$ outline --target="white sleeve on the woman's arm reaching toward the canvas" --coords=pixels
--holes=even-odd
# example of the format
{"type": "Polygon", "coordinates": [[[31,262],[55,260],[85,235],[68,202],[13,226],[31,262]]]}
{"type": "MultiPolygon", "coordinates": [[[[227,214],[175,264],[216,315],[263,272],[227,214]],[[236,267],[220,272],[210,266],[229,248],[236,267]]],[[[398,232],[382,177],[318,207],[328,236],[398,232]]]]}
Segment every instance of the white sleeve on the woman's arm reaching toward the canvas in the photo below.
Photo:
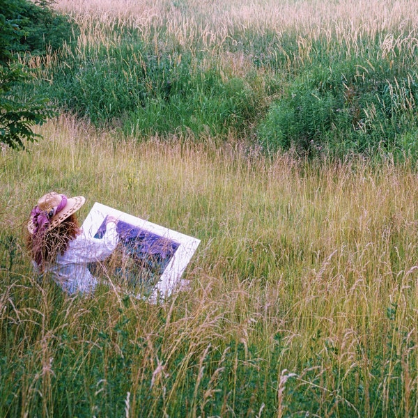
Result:
{"type": "Polygon", "coordinates": [[[90,237],[86,235],[85,231],[82,231],[74,240],[69,242],[63,258],[65,258],[67,263],[102,261],[114,251],[116,245],[118,245],[118,240],[116,224],[109,222],[106,227],[106,233],[104,233],[102,238],[90,237]]]}

